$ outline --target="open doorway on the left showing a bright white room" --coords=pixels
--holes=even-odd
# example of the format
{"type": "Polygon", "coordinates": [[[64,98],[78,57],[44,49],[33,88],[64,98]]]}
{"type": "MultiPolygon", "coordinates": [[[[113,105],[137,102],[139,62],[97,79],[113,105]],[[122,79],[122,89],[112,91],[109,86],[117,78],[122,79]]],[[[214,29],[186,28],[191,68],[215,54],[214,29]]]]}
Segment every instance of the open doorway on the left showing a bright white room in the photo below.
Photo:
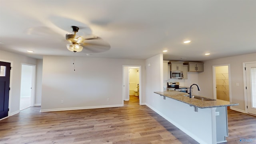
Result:
{"type": "Polygon", "coordinates": [[[35,65],[22,64],[20,84],[20,110],[34,106],[35,65]]]}

